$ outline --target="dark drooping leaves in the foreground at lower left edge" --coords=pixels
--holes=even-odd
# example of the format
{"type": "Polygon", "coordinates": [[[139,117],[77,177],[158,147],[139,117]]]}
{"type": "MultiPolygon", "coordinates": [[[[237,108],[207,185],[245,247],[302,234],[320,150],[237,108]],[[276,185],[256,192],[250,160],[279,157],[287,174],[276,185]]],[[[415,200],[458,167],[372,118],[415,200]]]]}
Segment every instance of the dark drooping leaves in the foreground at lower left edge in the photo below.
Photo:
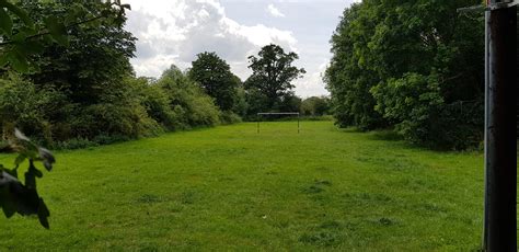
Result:
{"type": "Polygon", "coordinates": [[[50,213],[36,190],[36,177],[41,179],[43,172],[36,168],[35,163],[41,162],[47,171],[50,171],[56,162],[53,153],[34,145],[18,129],[14,131],[13,140],[0,147],[0,152],[18,153],[13,169],[0,164],[0,207],[3,214],[8,218],[16,213],[22,216],[37,215],[42,226],[48,229],[47,218],[50,213]],[[28,161],[28,168],[24,173],[25,184],[23,184],[19,180],[19,168],[25,160],[28,161]]]}

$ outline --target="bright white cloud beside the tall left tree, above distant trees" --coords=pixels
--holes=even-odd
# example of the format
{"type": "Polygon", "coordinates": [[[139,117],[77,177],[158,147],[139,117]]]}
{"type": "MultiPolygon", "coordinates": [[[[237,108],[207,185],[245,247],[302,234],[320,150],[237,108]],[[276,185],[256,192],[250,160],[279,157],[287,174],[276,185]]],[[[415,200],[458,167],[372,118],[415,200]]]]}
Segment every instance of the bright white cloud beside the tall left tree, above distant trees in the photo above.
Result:
{"type": "Polygon", "coordinates": [[[216,51],[243,80],[247,56],[269,43],[298,51],[290,31],[263,24],[243,25],[228,18],[216,0],[126,0],[131,4],[126,28],[139,41],[131,64],[138,76],[160,77],[174,64],[187,68],[203,51],[216,51]]]}

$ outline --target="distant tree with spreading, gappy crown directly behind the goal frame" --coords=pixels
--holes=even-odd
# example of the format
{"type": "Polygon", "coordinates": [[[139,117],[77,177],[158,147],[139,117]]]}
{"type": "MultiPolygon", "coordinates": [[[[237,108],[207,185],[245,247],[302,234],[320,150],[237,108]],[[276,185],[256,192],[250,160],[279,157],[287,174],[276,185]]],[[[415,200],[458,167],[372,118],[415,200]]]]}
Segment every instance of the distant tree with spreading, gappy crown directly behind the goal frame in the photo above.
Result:
{"type": "Polygon", "coordinates": [[[258,57],[249,57],[251,62],[249,68],[253,73],[244,85],[250,98],[253,98],[249,103],[255,103],[252,104],[252,108],[278,111],[285,100],[287,103],[293,96],[291,89],[295,85],[291,81],[305,73],[303,68],[292,66],[293,60],[298,58],[296,53],[287,54],[280,46],[274,44],[264,46],[258,57]]]}

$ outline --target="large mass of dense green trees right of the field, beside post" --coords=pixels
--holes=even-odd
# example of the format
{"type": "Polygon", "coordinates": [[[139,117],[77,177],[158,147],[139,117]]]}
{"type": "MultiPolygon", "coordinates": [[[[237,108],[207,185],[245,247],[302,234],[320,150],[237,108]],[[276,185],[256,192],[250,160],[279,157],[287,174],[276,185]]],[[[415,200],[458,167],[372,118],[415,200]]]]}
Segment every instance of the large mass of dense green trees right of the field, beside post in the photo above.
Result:
{"type": "Polygon", "coordinates": [[[394,128],[429,148],[483,139],[481,0],[364,0],[344,10],[324,81],[339,126],[394,128]]]}

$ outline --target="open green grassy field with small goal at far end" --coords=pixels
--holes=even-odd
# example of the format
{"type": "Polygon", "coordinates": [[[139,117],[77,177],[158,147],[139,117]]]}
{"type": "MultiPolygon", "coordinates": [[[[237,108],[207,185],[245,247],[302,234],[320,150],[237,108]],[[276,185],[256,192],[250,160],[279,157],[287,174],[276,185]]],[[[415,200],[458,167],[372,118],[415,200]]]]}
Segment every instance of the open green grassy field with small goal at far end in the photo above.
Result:
{"type": "MultiPolygon", "coordinates": [[[[470,251],[483,157],[331,122],[174,133],[57,153],[50,230],[0,216],[0,250],[470,251]]],[[[1,163],[12,162],[0,157],[1,163]]]]}

